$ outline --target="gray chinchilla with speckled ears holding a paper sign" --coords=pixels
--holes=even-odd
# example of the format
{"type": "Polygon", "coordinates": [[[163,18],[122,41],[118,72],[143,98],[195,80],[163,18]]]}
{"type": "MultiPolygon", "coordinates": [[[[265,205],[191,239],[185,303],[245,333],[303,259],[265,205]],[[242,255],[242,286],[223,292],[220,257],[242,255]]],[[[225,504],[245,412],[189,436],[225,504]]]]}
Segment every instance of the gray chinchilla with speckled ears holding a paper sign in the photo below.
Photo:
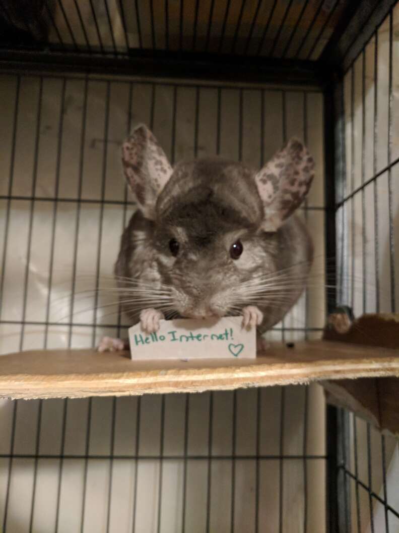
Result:
{"type": "MultiPolygon", "coordinates": [[[[242,315],[263,333],[305,288],[312,240],[294,212],[314,161],[297,139],[259,171],[219,158],[172,167],[146,126],[122,148],[138,209],[121,238],[121,305],[151,333],[161,318],[242,315]]],[[[119,349],[109,339],[99,349],[119,349]],[[111,342],[110,342],[111,341],[111,342]]]]}

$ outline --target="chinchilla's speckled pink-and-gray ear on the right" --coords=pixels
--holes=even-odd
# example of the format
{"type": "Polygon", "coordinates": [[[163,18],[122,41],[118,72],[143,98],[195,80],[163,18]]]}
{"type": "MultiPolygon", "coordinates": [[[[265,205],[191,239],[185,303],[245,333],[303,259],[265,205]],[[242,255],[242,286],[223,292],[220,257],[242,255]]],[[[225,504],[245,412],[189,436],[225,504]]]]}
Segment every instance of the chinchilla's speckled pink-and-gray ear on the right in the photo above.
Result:
{"type": "Polygon", "coordinates": [[[255,175],[264,206],[264,231],[277,231],[301,205],[313,175],[313,158],[298,139],[290,139],[255,175]]]}

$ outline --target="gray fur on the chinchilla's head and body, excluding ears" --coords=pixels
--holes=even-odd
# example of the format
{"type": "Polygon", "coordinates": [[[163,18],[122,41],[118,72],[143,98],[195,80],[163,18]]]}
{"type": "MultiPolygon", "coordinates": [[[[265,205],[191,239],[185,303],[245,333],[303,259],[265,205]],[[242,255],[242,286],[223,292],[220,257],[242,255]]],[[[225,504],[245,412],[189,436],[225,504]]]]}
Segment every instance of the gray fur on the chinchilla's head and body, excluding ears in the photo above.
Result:
{"type": "MultiPolygon", "coordinates": [[[[239,314],[240,308],[255,305],[264,313],[261,333],[277,324],[303,292],[313,245],[296,215],[287,217],[276,231],[264,231],[267,214],[255,175],[242,164],[215,158],[176,165],[157,196],[152,220],[145,217],[145,210],[131,217],[122,235],[115,274],[137,280],[143,290],[168,287],[179,316],[239,314]],[[169,250],[172,238],[180,243],[177,257],[169,250]],[[238,238],[244,252],[233,260],[229,249],[238,238]],[[276,294],[265,303],[267,292],[251,295],[246,288],[288,267],[295,279],[287,281],[289,295],[276,294]]],[[[299,204],[295,199],[294,208],[299,204]]],[[[154,305],[143,303],[146,307],[154,305]]],[[[129,316],[132,322],[138,321],[137,310],[129,316]]]]}

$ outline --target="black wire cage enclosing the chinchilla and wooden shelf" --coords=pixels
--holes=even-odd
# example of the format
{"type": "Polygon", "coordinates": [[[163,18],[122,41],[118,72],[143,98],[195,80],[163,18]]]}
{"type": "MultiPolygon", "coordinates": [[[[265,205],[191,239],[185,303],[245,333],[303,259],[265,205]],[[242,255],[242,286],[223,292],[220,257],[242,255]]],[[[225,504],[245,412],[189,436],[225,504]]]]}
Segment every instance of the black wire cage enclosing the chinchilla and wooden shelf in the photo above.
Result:
{"type": "MultiPolygon", "coordinates": [[[[172,162],[309,146],[318,282],[270,338],[320,336],[336,303],[396,311],[398,32],[393,1],[0,0],[0,352],[126,333],[98,289],[135,208],[119,152],[138,122],[172,162]]],[[[399,448],[316,384],[0,400],[0,524],[395,533],[399,448]]]]}

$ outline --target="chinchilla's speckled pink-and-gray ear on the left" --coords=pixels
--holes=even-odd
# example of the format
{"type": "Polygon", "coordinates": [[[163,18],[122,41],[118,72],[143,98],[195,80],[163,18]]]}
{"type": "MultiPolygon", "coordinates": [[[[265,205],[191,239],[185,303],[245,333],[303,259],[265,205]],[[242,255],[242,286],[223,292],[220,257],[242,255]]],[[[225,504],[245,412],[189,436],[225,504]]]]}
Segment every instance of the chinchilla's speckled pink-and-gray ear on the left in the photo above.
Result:
{"type": "Polygon", "coordinates": [[[172,174],[167,156],[144,124],[137,126],[122,144],[126,181],[144,216],[153,220],[156,199],[172,174]]]}

